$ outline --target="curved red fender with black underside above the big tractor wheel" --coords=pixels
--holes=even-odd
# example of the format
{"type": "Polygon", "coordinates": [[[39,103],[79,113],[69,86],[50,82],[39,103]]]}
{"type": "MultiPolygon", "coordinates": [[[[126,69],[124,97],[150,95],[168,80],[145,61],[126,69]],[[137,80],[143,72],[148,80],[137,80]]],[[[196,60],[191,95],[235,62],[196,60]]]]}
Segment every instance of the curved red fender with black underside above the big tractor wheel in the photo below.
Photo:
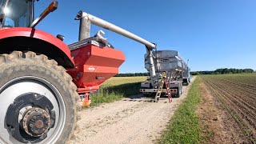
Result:
{"type": "Polygon", "coordinates": [[[0,28],[0,54],[14,50],[30,50],[45,54],[65,68],[74,68],[69,47],[42,30],[28,27],[0,28]]]}

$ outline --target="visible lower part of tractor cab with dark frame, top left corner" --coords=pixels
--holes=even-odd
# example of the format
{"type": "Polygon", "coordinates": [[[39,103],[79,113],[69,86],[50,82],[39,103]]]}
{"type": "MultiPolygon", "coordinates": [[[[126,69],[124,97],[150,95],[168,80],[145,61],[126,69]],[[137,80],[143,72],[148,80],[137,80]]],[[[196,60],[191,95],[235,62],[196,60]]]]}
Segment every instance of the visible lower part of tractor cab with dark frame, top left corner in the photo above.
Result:
{"type": "Polygon", "coordinates": [[[30,27],[34,20],[34,0],[1,0],[1,27],[30,27]]]}

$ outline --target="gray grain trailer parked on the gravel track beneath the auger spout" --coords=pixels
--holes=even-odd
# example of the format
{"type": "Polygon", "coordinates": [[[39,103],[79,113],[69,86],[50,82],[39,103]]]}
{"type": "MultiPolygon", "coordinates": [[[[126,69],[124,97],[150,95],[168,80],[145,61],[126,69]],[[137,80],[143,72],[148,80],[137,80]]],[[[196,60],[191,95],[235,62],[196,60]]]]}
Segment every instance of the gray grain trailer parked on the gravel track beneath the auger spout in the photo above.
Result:
{"type": "MultiPolygon", "coordinates": [[[[146,82],[142,82],[140,92],[145,95],[156,94],[159,86],[161,86],[161,74],[166,72],[171,96],[180,97],[182,86],[188,85],[190,81],[189,68],[186,62],[182,60],[177,50],[158,50],[154,51],[153,54],[156,77],[150,77],[146,82]]],[[[145,68],[146,70],[150,70],[150,62],[147,54],[145,54],[145,68]]],[[[166,85],[164,85],[162,94],[166,93],[166,85]]]]}

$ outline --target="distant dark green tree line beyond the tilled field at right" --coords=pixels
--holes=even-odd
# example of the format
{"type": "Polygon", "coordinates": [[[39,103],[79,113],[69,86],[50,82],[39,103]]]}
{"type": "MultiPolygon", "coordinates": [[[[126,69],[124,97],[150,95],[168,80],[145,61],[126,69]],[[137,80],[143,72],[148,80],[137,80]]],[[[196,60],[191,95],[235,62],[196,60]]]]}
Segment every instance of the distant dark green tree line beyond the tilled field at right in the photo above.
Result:
{"type": "Polygon", "coordinates": [[[252,69],[217,69],[212,71],[193,71],[190,72],[191,75],[202,75],[202,74],[244,74],[244,73],[254,73],[252,69]]]}

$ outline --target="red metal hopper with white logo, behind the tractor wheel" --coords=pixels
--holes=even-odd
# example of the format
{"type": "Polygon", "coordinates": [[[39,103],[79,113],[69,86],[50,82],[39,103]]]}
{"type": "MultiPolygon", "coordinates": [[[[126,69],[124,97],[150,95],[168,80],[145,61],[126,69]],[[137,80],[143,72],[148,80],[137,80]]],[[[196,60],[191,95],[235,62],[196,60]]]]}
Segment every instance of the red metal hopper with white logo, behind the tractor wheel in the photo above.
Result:
{"type": "Polygon", "coordinates": [[[78,90],[102,85],[118,74],[118,67],[125,61],[122,51],[93,45],[71,50],[71,55],[76,68],[67,72],[74,78],[74,83],[80,88],[78,90]]]}

